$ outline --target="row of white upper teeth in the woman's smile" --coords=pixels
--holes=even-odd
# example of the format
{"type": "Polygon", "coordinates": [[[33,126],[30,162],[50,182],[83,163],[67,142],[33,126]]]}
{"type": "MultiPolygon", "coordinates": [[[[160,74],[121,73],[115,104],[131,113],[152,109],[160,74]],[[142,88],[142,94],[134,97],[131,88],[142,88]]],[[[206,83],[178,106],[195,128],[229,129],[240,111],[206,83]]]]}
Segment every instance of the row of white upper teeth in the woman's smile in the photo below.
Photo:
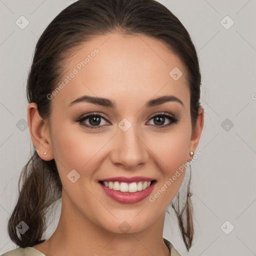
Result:
{"type": "Polygon", "coordinates": [[[132,182],[132,183],[126,183],[126,182],[118,182],[118,181],[103,181],[103,184],[114,190],[119,190],[121,192],[136,192],[141,191],[149,187],[151,181],[139,181],[138,183],[132,182]]]}

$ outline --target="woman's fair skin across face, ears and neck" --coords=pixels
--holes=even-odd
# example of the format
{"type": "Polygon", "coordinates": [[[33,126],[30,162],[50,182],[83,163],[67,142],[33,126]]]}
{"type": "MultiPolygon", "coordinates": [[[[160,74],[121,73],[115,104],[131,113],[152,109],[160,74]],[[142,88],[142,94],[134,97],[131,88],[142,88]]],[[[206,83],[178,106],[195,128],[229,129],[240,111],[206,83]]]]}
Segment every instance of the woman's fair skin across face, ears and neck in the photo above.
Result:
{"type": "MultiPolygon", "coordinates": [[[[49,120],[39,116],[35,103],[27,108],[38,155],[45,161],[55,159],[63,184],[58,225],[48,239],[33,246],[45,255],[170,254],[162,239],[165,209],[180,188],[184,172],[154,202],[148,197],[136,203],[117,202],[99,189],[97,181],[115,176],[152,177],[157,181],[153,195],[189,160],[189,151],[196,151],[203,109],[199,108],[192,130],[186,70],[164,44],[142,35],[110,35],[82,44],[67,61],[66,75],[94,48],[99,50],[53,96],[49,120]],[[174,67],[183,72],[178,80],[169,75],[174,67]],[[110,99],[116,107],[89,102],[68,106],[83,95],[110,99]],[[146,101],[163,95],[174,95],[183,105],[167,101],[144,107],[146,101]],[[92,112],[109,121],[102,117],[94,129],[74,121],[92,112]],[[159,125],[151,117],[163,112],[178,117],[178,122],[156,129],[159,125]],[[131,123],[127,131],[118,126],[123,118],[131,123]],[[67,178],[72,169],[80,174],[74,183],[67,178]],[[118,228],[123,221],[130,226],[126,233],[118,228]]],[[[161,126],[170,122],[165,117],[161,126]]],[[[83,123],[92,126],[89,118],[83,123]]]]}

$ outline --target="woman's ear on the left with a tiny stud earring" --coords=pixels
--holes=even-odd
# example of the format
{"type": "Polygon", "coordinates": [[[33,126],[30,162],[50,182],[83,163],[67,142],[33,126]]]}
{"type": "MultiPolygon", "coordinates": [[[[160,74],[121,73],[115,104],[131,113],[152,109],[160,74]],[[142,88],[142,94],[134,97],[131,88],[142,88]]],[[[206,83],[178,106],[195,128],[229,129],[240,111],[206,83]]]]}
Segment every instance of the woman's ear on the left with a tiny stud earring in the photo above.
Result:
{"type": "Polygon", "coordinates": [[[37,110],[37,104],[34,102],[29,103],[27,106],[27,122],[30,137],[39,157],[45,161],[53,159],[48,120],[41,118],[37,110]]]}

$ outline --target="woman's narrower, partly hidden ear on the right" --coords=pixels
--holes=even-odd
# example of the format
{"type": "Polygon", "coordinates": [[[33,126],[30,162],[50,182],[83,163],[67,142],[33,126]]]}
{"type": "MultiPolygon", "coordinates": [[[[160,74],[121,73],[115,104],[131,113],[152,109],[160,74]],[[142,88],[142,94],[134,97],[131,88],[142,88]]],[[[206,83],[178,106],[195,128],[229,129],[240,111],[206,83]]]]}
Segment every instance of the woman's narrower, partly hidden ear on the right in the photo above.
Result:
{"type": "MultiPolygon", "coordinates": [[[[203,123],[204,123],[204,112],[203,112],[203,108],[199,107],[196,124],[191,133],[191,138],[190,138],[190,143],[189,143],[189,151],[195,152],[195,149],[199,143],[199,138],[200,138],[201,131],[203,128],[203,123]]],[[[188,155],[189,155],[189,152],[188,152],[188,155]]]]}

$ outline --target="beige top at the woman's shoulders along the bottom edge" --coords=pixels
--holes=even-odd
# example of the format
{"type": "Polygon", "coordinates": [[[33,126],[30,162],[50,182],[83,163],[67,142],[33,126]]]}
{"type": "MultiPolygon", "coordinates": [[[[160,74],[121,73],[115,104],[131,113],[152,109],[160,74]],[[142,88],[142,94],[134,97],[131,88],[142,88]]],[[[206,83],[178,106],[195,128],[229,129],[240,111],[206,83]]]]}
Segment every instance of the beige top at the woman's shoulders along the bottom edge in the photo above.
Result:
{"type": "MultiPolygon", "coordinates": [[[[181,256],[166,238],[163,237],[163,241],[170,249],[170,256],[181,256]]],[[[0,256],[46,256],[46,255],[33,247],[25,247],[25,248],[19,247],[19,248],[7,251],[0,256]]]]}

